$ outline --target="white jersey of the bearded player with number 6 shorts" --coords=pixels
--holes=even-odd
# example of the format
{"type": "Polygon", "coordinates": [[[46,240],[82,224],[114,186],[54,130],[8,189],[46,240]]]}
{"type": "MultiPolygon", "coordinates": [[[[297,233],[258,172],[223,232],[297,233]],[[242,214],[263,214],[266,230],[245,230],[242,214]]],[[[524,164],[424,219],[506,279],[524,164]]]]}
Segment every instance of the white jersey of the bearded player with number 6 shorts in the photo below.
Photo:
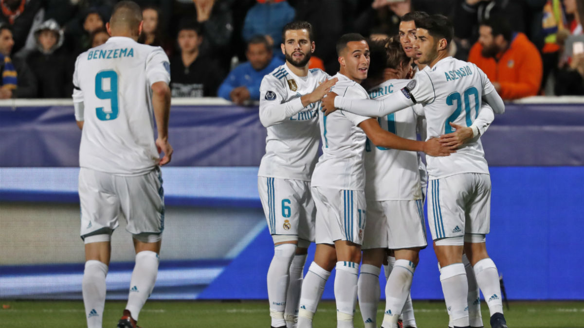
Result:
{"type": "Polygon", "coordinates": [[[300,97],[314,91],[329,77],[318,68],[300,77],[287,64],[264,76],[259,113],[262,123],[269,121],[269,124],[265,124],[268,125],[266,155],[259,165],[258,176],[310,181],[317,163],[321,102],[304,107],[300,97]],[[296,107],[292,116],[284,114],[286,107],[296,107]]]}

